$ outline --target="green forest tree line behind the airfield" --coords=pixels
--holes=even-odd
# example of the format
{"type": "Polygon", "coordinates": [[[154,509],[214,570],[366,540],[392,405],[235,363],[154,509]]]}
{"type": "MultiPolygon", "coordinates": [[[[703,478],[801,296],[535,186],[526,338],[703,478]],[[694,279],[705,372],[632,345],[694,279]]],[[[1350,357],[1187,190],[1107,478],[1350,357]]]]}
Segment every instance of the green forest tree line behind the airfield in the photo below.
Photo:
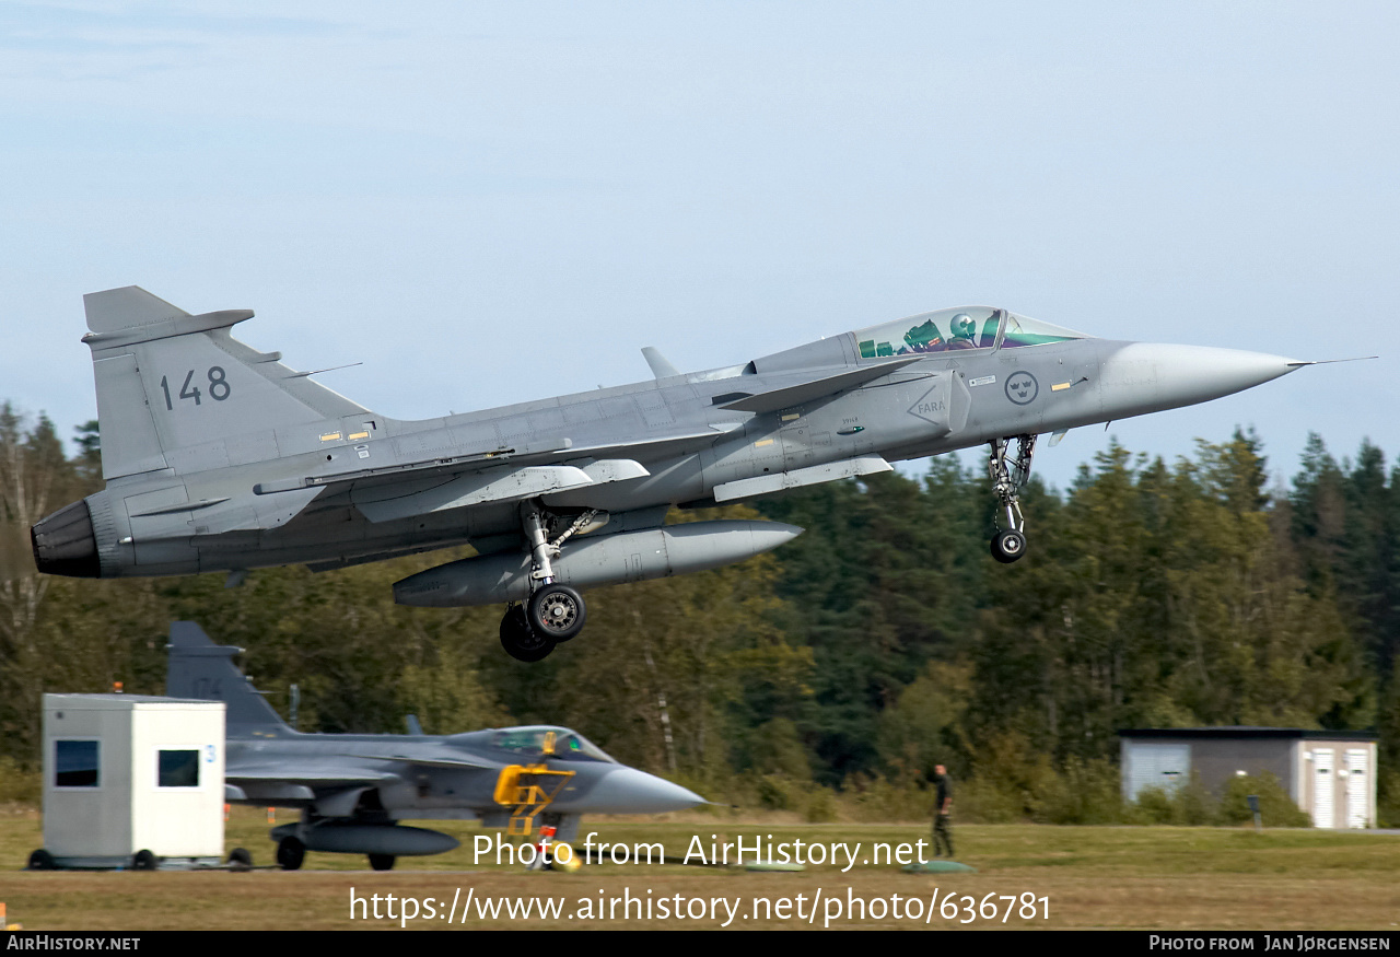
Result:
{"type": "Polygon", "coordinates": [[[812,817],[918,803],[935,763],[972,785],[965,809],[1035,817],[1112,791],[1120,729],[1284,725],[1379,730],[1400,823],[1400,466],[1371,444],[1338,462],[1315,435],[1273,487],[1253,432],[1175,463],[1113,445],[1067,490],[1032,480],[1014,565],[988,554],[984,476],[951,456],[918,478],[676,512],[806,532],[742,565],[591,592],[588,632],[536,665],[501,652],[498,609],[392,603],[392,582],[468,551],[259,569],[232,589],[38,575],[29,526],[101,487],[95,424],[76,448],[0,406],[11,768],[38,763],[45,691],[160,694],[169,621],[189,618],[246,649],[284,715],[295,683],[302,730],[563,723],[713,799],[812,817]]]}

